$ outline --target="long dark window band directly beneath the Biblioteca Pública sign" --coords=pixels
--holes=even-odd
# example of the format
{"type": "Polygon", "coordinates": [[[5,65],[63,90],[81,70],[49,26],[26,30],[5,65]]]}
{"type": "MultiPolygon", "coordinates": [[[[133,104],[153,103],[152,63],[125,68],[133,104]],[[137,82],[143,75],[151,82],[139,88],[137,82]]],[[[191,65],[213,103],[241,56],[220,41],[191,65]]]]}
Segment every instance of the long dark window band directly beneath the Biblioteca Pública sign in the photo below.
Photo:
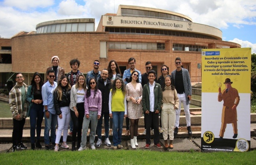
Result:
{"type": "Polygon", "coordinates": [[[158,30],[158,29],[139,29],[139,28],[117,28],[117,27],[106,27],[105,32],[110,33],[121,33],[121,34],[144,34],[144,35],[166,35],[166,36],[180,36],[180,37],[192,37],[192,38],[204,38],[204,39],[214,39],[212,36],[190,33],[190,32],[180,32],[171,30],[158,30]]]}

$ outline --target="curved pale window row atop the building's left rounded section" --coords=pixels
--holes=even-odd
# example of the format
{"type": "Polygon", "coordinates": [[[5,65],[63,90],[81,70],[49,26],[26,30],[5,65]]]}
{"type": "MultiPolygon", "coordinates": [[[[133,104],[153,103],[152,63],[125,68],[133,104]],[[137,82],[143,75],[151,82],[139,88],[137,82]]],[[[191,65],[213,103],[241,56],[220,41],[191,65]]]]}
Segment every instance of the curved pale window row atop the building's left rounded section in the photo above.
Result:
{"type": "Polygon", "coordinates": [[[92,32],[94,23],[63,23],[52,24],[39,27],[37,33],[54,33],[54,32],[92,32]]]}

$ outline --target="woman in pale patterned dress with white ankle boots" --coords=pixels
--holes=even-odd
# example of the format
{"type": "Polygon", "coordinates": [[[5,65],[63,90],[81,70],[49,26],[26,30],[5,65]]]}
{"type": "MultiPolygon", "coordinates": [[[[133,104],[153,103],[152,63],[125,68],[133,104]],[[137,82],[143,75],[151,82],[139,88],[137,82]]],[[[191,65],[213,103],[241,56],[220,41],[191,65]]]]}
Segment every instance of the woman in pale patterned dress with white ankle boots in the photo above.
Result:
{"type": "Polygon", "coordinates": [[[139,118],[142,117],[142,85],[139,83],[138,71],[133,71],[126,85],[128,118],[130,119],[131,147],[136,149],[139,118]]]}

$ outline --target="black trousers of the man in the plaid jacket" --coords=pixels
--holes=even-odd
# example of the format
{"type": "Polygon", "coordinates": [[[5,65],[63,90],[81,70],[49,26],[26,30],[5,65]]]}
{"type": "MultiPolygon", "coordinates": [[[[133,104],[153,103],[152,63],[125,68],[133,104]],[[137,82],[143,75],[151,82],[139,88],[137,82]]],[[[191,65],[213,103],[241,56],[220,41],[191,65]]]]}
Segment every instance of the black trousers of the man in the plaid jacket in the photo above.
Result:
{"type": "Polygon", "coordinates": [[[23,127],[25,124],[24,118],[22,120],[13,120],[13,130],[12,130],[12,146],[16,146],[17,144],[20,144],[22,141],[22,135],[23,135],[23,127]]]}

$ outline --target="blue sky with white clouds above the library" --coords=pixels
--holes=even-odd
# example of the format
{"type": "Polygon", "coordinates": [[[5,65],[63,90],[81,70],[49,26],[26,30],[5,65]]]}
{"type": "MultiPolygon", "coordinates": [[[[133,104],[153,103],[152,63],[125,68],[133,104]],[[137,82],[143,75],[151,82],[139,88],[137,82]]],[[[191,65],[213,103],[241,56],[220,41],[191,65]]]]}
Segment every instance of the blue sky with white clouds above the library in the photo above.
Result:
{"type": "Polygon", "coordinates": [[[120,4],[181,13],[194,23],[220,29],[222,40],[256,53],[256,0],[0,0],[0,36],[11,38],[60,19],[95,18],[97,28],[101,16],[116,13],[120,4]]]}

